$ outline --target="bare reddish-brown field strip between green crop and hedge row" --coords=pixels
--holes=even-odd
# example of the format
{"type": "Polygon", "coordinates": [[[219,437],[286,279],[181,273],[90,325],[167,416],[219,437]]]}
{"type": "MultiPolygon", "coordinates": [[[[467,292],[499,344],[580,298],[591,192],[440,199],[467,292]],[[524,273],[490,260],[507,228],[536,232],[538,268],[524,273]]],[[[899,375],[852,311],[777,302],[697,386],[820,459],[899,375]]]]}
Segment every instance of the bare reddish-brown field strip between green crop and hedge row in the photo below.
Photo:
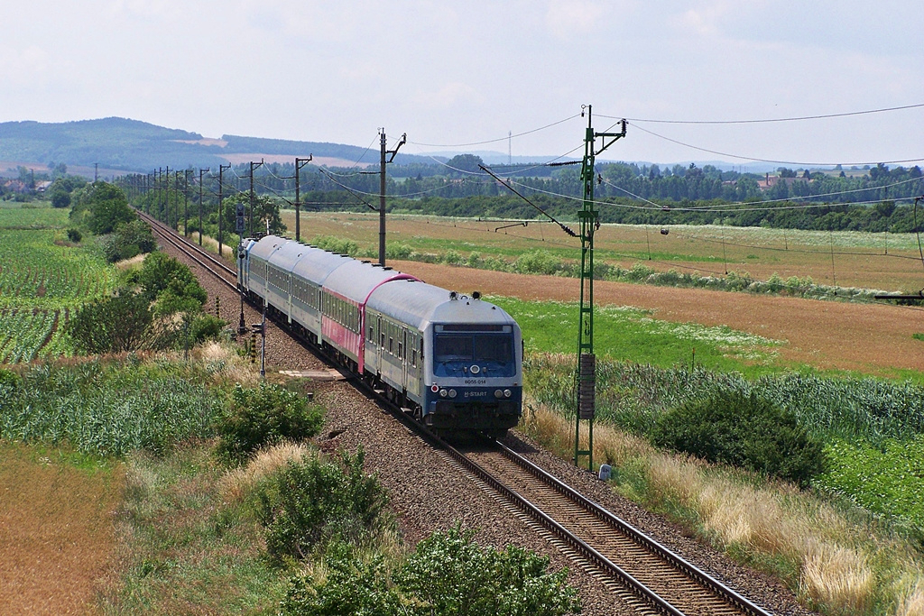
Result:
{"type": "MultiPolygon", "coordinates": [[[[414,261],[388,265],[424,281],[470,293],[522,299],[576,301],[580,281],[471,270],[414,261]]],[[[594,282],[594,302],[654,310],[658,319],[727,325],[742,332],[784,340],[781,356],[818,368],[888,375],[891,370],[924,371],[924,310],[758,296],[747,293],[594,282]]]]}

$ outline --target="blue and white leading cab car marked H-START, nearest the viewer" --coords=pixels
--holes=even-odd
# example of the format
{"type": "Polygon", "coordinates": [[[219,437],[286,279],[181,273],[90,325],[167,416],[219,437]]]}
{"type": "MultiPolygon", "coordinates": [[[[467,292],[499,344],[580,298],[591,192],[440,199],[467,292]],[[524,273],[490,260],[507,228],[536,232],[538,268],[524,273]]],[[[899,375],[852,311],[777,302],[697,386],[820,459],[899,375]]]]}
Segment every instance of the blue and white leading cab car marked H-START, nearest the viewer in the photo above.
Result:
{"type": "Polygon", "coordinates": [[[367,323],[368,366],[376,365],[378,353],[383,380],[400,385],[424,425],[446,436],[482,432],[495,438],[517,425],[522,334],[503,308],[478,294],[388,284],[372,294],[367,323]]]}

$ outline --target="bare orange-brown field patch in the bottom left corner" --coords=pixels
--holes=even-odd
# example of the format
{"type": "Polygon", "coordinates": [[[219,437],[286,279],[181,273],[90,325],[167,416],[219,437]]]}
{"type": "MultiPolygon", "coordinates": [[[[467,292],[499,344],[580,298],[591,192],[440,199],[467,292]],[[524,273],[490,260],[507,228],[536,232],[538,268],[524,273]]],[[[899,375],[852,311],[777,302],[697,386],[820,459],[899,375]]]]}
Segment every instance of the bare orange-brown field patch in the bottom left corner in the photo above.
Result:
{"type": "Polygon", "coordinates": [[[0,614],[95,613],[119,473],[0,443],[0,614]]]}

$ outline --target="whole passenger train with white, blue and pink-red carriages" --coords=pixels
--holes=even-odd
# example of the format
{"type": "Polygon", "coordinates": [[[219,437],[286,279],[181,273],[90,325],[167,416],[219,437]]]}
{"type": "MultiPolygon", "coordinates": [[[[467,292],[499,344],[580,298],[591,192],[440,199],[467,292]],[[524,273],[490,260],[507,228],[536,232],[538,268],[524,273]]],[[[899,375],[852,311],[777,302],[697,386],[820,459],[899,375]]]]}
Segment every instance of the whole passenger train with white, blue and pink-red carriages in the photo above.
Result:
{"type": "Polygon", "coordinates": [[[279,236],[242,240],[237,285],[438,434],[500,438],[517,425],[522,334],[479,293],[279,236]]]}

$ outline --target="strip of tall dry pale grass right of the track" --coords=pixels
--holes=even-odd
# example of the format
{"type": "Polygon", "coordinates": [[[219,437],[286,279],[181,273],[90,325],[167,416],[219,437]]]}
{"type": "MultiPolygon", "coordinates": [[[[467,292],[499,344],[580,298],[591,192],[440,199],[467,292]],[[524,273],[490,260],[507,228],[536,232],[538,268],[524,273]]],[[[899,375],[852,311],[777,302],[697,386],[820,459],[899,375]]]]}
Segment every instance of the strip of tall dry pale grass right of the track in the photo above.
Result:
{"type": "MultiPolygon", "coordinates": [[[[573,419],[530,403],[520,429],[571,459],[573,419]]],[[[586,443],[585,443],[586,444],[586,443]]],[[[689,512],[694,530],[771,570],[824,613],[924,616],[924,560],[904,538],[869,517],[778,480],[762,479],[685,455],[663,453],[611,426],[594,428],[596,463],[613,465],[624,493],[664,510],[689,512]],[[632,474],[638,481],[632,481],[632,474]],[[639,493],[639,486],[642,491],[639,493]],[[796,576],[786,579],[786,571],[796,576]]],[[[681,520],[689,522],[689,520],[681,520]]]]}

